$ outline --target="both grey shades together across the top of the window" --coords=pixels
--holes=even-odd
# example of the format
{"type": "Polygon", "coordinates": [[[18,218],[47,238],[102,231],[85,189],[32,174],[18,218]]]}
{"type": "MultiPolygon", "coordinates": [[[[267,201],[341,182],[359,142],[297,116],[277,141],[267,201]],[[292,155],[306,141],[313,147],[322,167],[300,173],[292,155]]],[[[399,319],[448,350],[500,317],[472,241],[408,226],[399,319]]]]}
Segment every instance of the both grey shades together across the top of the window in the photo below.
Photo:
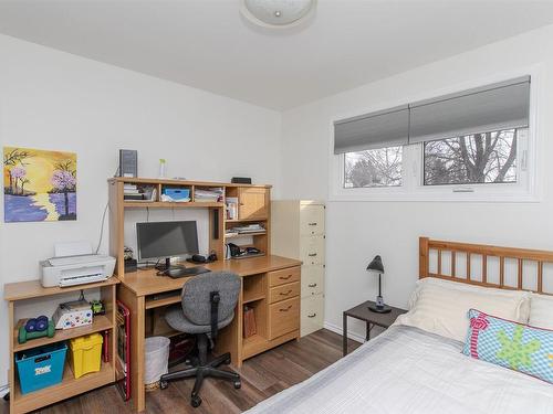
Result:
{"type": "Polygon", "coordinates": [[[525,128],[530,76],[334,123],[334,153],[525,128]]]}

